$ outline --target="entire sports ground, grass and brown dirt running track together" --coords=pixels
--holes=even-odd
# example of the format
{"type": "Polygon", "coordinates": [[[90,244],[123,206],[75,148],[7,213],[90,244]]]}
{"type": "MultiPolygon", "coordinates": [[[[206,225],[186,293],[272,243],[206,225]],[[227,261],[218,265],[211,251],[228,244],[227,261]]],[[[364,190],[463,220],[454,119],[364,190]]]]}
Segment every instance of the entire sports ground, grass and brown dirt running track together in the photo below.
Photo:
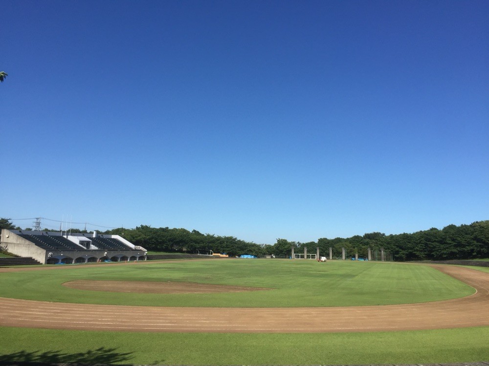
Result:
{"type": "Polygon", "coordinates": [[[0,359],[172,365],[489,360],[489,273],[439,269],[232,259],[9,269],[0,273],[1,306],[8,310],[0,324],[12,326],[0,328],[0,359]],[[140,286],[120,292],[121,283],[134,281],[140,286]],[[105,330],[107,323],[118,331],[105,330]]]}

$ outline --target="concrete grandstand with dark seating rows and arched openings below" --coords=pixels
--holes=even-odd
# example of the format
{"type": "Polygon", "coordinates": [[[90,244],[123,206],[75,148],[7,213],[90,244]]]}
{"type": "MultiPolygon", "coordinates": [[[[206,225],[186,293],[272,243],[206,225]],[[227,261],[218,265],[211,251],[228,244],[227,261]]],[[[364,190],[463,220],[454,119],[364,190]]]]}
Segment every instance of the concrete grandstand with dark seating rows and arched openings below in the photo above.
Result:
{"type": "Polygon", "coordinates": [[[1,245],[21,257],[44,264],[146,260],[146,249],[118,235],[67,234],[49,231],[1,231],[1,245]]]}

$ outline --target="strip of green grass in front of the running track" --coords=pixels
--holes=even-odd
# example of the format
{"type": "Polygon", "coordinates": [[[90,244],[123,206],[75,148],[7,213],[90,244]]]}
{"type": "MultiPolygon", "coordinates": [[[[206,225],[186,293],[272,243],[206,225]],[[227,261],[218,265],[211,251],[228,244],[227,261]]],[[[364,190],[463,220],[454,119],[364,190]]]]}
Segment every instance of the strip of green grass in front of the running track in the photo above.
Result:
{"type": "Polygon", "coordinates": [[[326,334],[128,333],[0,327],[0,361],[368,365],[489,360],[489,327],[326,334]]]}

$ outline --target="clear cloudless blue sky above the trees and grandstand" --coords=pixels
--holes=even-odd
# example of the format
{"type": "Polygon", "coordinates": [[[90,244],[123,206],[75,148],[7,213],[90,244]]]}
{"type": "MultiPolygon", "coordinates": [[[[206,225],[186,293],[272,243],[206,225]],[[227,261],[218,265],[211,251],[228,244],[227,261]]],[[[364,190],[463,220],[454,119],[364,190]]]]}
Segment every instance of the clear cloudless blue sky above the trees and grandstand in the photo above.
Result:
{"type": "Polygon", "coordinates": [[[269,244],[489,219],[488,1],[1,7],[0,217],[269,244]]]}

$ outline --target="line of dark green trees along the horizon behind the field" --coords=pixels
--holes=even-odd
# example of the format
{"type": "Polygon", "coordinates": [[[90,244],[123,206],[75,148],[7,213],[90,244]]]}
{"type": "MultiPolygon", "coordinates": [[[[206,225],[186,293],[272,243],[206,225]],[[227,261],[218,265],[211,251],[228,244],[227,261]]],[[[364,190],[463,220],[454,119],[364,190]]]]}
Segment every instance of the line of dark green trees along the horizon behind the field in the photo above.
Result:
{"type": "MultiPolygon", "coordinates": [[[[1,218],[0,228],[15,227],[9,219],[1,218]]],[[[71,232],[83,231],[71,229],[71,232]]],[[[118,228],[101,234],[120,235],[135,245],[155,252],[197,253],[198,250],[212,250],[229,256],[273,254],[285,258],[290,256],[291,247],[294,247],[295,253],[304,253],[304,247],[307,247],[308,253],[316,253],[316,247],[319,247],[323,256],[329,256],[331,247],[333,257],[341,257],[341,248],[345,248],[348,257],[358,253],[360,258],[366,258],[367,248],[370,247],[374,252],[384,248],[388,253],[386,259],[396,261],[489,258],[489,220],[476,221],[470,225],[448,225],[442,230],[431,228],[413,234],[385,235],[375,232],[348,238],[322,237],[317,242],[307,243],[279,238],[273,245],[256,244],[236,237],[201,234],[197,230],[152,228],[147,225],[134,229],[118,228]]]]}

